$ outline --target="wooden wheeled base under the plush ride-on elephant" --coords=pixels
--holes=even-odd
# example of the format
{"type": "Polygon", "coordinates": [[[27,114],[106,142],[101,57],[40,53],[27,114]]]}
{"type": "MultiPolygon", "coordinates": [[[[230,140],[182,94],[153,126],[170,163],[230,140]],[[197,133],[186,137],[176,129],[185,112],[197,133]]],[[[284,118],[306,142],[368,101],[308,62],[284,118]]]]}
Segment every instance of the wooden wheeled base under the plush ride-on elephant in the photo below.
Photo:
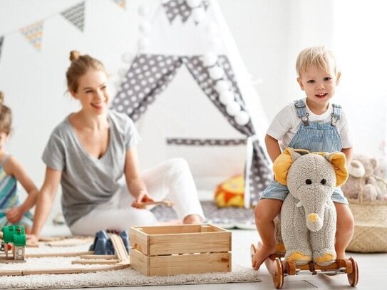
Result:
{"type": "MultiPolygon", "coordinates": [[[[261,247],[260,243],[258,244],[258,247],[252,244],[252,257],[259,247],[261,247]]],[[[358,284],[358,264],[352,257],[349,259],[336,259],[336,261],[329,266],[320,266],[313,261],[310,261],[309,264],[306,265],[297,266],[294,261],[284,261],[284,256],[276,253],[270,255],[264,261],[264,264],[272,275],[273,284],[277,289],[281,289],[284,285],[285,276],[308,273],[312,275],[317,273],[329,275],[347,274],[351,286],[356,286],[358,284]]]]}

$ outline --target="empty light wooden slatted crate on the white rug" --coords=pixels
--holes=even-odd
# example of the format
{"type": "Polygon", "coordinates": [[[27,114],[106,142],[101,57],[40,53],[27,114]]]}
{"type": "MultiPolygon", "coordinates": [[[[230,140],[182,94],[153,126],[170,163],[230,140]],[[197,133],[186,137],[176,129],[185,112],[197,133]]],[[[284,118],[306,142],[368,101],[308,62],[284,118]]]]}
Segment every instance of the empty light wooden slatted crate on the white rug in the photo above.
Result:
{"type": "Polygon", "coordinates": [[[146,276],[231,271],[231,232],[212,224],[130,227],[130,265],[146,276]]]}

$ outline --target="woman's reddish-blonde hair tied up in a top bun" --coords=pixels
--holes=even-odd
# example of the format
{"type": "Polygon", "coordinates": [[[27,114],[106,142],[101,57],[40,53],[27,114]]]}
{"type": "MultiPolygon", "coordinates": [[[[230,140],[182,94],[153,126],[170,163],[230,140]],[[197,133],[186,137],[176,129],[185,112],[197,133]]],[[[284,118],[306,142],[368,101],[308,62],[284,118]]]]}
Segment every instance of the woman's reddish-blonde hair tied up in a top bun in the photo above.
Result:
{"type": "MultiPolygon", "coordinates": [[[[79,51],[70,51],[71,65],[66,72],[67,88],[73,92],[78,90],[78,81],[81,76],[85,75],[90,69],[96,71],[105,71],[103,64],[96,58],[87,54],[81,55],[79,51]]],[[[107,74],[107,73],[106,73],[107,74]]]]}

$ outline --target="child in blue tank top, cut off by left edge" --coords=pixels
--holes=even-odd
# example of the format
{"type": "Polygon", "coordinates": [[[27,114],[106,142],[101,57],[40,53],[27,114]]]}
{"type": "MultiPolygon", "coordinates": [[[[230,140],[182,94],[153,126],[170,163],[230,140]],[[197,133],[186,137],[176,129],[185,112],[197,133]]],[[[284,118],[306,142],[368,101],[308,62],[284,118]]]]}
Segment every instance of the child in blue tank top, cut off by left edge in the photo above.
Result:
{"type": "Polygon", "coordinates": [[[0,229],[11,224],[24,226],[29,234],[33,216],[29,209],[36,203],[38,189],[14,156],[9,155],[4,145],[11,133],[12,112],[4,105],[4,93],[0,92],[0,229]],[[19,202],[17,183],[20,182],[28,197],[19,202]]]}

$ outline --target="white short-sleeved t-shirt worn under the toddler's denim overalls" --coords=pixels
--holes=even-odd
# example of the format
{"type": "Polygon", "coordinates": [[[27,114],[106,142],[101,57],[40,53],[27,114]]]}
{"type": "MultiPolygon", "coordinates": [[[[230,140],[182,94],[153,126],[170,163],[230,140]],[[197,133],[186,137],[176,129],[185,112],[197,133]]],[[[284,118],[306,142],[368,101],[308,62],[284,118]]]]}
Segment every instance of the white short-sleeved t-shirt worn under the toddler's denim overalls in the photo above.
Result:
{"type": "MultiPolygon", "coordinates": [[[[326,112],[321,115],[316,115],[311,112],[308,105],[306,104],[306,98],[303,99],[306,105],[306,113],[309,113],[309,122],[319,122],[327,123],[331,122],[331,113],[333,113],[332,104],[329,103],[329,108],[326,112]]],[[[291,139],[296,135],[297,130],[299,130],[299,125],[301,124],[301,118],[297,115],[296,107],[294,103],[289,103],[285,108],[279,111],[279,113],[274,117],[274,120],[267,130],[267,135],[272,136],[272,138],[279,140],[279,146],[282,150],[288,147],[291,139]]],[[[352,147],[352,138],[349,133],[348,120],[343,109],[341,109],[340,119],[336,122],[336,128],[339,132],[341,142],[343,143],[343,148],[352,147]]]]}

